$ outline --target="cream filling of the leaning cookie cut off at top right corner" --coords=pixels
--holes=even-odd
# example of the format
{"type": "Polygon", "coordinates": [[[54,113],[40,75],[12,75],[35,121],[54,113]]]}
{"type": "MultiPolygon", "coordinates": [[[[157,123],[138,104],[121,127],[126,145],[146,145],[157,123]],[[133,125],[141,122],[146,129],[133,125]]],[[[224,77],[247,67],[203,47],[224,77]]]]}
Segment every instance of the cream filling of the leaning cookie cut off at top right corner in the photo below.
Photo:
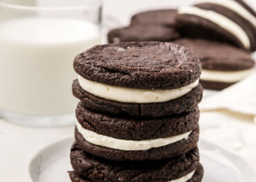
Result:
{"type": "Polygon", "coordinates": [[[236,12],[241,17],[244,17],[256,28],[256,18],[251,14],[244,6],[233,0],[197,0],[198,3],[214,3],[223,7],[226,7],[233,12],[236,12]]]}

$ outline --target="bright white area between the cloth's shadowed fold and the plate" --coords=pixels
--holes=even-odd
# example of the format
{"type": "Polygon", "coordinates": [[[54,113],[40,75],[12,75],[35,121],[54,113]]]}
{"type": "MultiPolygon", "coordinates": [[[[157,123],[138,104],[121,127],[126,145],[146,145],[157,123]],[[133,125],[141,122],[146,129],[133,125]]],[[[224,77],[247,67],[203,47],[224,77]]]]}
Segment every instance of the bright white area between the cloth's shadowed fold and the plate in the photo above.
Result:
{"type": "Polygon", "coordinates": [[[256,126],[253,118],[228,110],[201,112],[200,138],[239,153],[256,167],[256,126]]]}

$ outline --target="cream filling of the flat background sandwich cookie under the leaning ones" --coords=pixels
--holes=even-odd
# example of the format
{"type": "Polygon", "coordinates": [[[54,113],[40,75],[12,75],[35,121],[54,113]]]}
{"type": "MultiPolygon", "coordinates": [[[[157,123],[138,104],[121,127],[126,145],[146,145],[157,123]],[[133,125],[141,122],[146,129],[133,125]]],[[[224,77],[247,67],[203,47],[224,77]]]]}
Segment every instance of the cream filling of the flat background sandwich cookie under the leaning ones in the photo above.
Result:
{"type": "Polygon", "coordinates": [[[205,81],[219,81],[224,83],[235,83],[241,81],[242,79],[248,77],[253,73],[255,69],[242,70],[242,71],[215,71],[215,70],[202,70],[200,79],[205,81]]]}

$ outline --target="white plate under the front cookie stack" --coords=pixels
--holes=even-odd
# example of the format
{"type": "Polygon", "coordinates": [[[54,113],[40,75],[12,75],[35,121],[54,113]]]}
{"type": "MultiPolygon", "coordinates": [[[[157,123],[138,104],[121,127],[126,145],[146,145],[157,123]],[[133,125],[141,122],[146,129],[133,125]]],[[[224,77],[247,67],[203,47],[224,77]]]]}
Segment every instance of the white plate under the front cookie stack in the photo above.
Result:
{"type": "MultiPolygon", "coordinates": [[[[30,161],[29,182],[70,182],[72,170],[69,152],[73,137],[57,141],[40,150],[30,161]]],[[[255,169],[240,156],[207,141],[199,141],[201,163],[205,169],[203,182],[255,182],[255,169]]]]}

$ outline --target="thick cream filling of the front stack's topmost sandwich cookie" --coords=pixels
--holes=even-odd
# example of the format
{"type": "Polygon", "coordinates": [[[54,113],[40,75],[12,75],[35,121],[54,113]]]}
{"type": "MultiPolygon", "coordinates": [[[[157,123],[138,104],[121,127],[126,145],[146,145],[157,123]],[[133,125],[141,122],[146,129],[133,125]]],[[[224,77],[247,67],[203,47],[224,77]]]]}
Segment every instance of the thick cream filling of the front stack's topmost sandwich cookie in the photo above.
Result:
{"type": "Polygon", "coordinates": [[[97,97],[122,103],[160,103],[170,101],[188,94],[199,83],[199,80],[183,88],[172,90],[145,90],[136,88],[122,88],[89,81],[78,75],[80,86],[86,92],[97,97]]]}

